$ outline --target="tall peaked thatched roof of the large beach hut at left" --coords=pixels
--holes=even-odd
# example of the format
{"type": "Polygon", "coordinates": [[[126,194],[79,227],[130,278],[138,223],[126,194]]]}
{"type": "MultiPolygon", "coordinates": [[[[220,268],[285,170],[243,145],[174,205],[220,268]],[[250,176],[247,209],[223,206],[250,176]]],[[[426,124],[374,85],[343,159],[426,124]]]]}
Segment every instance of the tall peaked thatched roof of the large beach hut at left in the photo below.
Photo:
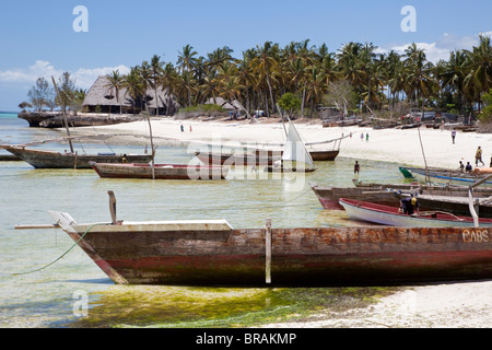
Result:
{"type": "MultiPolygon", "coordinates": [[[[85,94],[84,106],[124,106],[131,107],[133,105],[131,96],[127,93],[127,89],[120,89],[118,92],[118,98],[116,98],[116,91],[112,90],[109,80],[106,75],[97,78],[94,84],[85,94]]],[[[149,107],[155,108],[155,91],[149,89],[147,91],[149,107]]],[[[157,103],[159,108],[163,108],[171,103],[177,106],[176,98],[167,93],[167,89],[157,89],[157,103]]]]}

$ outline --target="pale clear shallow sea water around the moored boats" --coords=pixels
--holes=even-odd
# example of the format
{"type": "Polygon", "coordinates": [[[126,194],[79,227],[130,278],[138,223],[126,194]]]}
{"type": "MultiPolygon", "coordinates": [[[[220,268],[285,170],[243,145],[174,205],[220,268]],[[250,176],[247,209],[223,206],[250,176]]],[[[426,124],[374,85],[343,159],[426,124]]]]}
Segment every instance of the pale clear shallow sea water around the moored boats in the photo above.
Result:
{"type": "MultiPolygon", "coordinates": [[[[30,128],[16,114],[0,114],[2,144],[63,136],[63,130],[30,128]]],[[[131,139],[126,144],[108,140],[74,145],[91,153],[144,150],[131,139]]],[[[67,144],[39,148],[61,151],[67,144]]],[[[262,228],[266,219],[273,228],[350,225],[344,212],[323,210],[309,186],[353,186],[354,160],[343,158],[343,143],[341,150],[335,162],[317,162],[318,170],[303,178],[232,168],[227,179],[212,182],[102,179],[92,170],[35,170],[24,162],[0,162],[0,327],[62,327],[79,319],[80,295],[89,295],[94,305],[98,295],[115,288],[78,246],[70,250],[73,241],[61,230],[21,231],[15,225],[52,224],[48,210],[68,212],[80,223],[109,222],[108,190],[116,195],[120,220],[225,219],[248,229],[262,228]]],[[[156,163],[186,164],[191,159],[184,147],[157,149],[156,163]]],[[[364,161],[364,154],[359,163],[365,182],[402,180],[397,164],[364,161]]]]}

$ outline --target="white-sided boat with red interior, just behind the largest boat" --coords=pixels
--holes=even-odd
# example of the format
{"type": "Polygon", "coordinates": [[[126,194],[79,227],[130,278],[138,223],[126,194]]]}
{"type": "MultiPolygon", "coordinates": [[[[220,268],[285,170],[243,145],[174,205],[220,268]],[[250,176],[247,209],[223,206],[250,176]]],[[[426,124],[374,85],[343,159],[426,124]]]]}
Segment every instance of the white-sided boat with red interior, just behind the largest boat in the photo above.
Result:
{"type": "MultiPolygon", "coordinates": [[[[403,228],[473,228],[472,217],[458,217],[443,211],[421,211],[406,215],[399,207],[390,207],[361,200],[340,199],[340,205],[351,220],[403,228]]],[[[481,228],[492,228],[492,219],[479,219],[481,228]]]]}

